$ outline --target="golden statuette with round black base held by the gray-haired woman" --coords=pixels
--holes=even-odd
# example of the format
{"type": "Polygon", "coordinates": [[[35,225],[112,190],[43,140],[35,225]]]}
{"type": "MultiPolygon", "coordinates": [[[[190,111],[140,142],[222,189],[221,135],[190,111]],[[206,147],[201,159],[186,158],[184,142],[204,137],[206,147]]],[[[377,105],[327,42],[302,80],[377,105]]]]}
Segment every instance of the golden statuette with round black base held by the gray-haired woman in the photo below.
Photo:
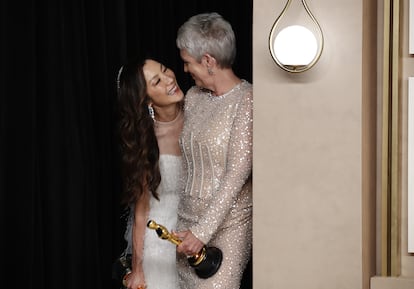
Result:
{"type": "MultiPolygon", "coordinates": [[[[155,230],[158,237],[168,240],[175,245],[181,244],[181,240],[175,238],[163,225],[149,220],[147,227],[155,230]]],[[[219,248],[204,246],[203,249],[194,256],[188,257],[188,263],[194,268],[198,277],[207,279],[213,276],[220,268],[223,260],[223,253],[219,248]]]]}

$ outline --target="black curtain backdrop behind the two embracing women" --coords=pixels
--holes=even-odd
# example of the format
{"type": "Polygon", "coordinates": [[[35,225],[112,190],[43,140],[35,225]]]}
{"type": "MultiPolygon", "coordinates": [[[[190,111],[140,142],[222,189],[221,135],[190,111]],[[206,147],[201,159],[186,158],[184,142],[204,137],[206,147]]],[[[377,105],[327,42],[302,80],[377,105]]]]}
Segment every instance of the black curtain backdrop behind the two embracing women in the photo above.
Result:
{"type": "Polygon", "coordinates": [[[188,89],[176,31],[211,11],[232,23],[234,69],[252,81],[252,0],[0,3],[1,287],[116,288],[118,69],[149,51],[188,89]]]}

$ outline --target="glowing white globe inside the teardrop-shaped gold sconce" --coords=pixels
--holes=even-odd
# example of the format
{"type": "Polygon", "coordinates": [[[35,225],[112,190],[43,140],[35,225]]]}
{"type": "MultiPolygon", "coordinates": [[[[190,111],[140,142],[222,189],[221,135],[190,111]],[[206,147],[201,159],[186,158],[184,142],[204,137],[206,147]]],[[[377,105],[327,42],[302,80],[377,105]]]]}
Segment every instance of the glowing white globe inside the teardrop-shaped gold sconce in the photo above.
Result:
{"type": "Polygon", "coordinates": [[[293,25],[283,28],[275,37],[273,51],[283,65],[308,65],[316,57],[318,43],[308,28],[293,25]]]}

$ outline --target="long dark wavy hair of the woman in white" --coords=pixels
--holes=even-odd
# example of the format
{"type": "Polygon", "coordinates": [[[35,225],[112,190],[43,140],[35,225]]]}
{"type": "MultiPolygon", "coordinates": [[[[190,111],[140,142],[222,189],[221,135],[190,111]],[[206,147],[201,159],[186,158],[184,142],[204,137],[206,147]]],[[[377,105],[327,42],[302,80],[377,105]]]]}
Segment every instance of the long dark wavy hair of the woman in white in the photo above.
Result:
{"type": "Polygon", "coordinates": [[[149,190],[158,199],[161,182],[159,148],[154,120],[148,113],[150,97],[143,74],[147,59],[124,65],[117,79],[121,175],[124,194],[121,203],[135,203],[149,190]]]}

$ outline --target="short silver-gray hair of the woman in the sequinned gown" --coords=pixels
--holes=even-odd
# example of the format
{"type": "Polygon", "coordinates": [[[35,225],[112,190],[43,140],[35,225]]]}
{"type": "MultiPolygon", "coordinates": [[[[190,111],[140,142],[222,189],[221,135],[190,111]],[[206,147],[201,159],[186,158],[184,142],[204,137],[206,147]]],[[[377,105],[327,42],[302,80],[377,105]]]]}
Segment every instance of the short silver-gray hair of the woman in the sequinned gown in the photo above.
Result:
{"type": "Polygon", "coordinates": [[[220,14],[202,13],[190,17],[177,32],[178,49],[185,49],[198,62],[208,53],[222,68],[231,68],[236,58],[236,37],[220,14]]]}

